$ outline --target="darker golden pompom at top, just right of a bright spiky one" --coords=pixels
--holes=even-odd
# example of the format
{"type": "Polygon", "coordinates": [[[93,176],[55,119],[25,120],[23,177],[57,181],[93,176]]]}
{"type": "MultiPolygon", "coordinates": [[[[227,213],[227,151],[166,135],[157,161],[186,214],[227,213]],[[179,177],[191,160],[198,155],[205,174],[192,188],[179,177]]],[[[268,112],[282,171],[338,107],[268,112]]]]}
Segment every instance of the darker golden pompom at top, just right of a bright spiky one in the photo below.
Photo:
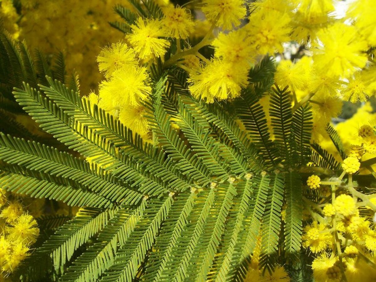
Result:
{"type": "Polygon", "coordinates": [[[162,24],[167,36],[185,39],[193,32],[194,22],[188,9],[167,6],[162,11],[164,14],[162,24]]]}

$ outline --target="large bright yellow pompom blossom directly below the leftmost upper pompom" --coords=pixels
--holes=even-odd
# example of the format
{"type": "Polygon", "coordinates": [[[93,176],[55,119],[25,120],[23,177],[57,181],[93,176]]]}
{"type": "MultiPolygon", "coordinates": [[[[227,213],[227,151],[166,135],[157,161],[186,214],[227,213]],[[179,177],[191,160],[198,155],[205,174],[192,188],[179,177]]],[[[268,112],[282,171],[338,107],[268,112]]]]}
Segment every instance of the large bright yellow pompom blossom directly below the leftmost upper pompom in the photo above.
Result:
{"type": "Polygon", "coordinates": [[[102,81],[99,86],[100,106],[104,110],[137,106],[141,100],[149,96],[152,90],[149,83],[150,77],[144,67],[118,69],[112,74],[110,80],[102,81]],[[102,101],[103,104],[101,104],[102,101]],[[112,106],[110,107],[107,103],[111,103],[112,106]]]}

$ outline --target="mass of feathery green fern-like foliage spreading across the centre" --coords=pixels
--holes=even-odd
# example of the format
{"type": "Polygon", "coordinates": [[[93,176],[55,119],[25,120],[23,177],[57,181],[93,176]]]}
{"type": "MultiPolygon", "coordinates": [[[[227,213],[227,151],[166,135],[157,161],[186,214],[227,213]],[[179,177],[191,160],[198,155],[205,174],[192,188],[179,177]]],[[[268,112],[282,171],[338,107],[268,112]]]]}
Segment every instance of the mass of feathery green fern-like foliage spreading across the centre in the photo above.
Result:
{"type": "MultiPolygon", "coordinates": [[[[120,6],[117,12],[133,17],[120,6]]],[[[240,280],[260,240],[265,271],[273,270],[277,254],[299,255],[300,169],[309,161],[338,164],[319,146],[311,149],[312,113],[308,106],[293,112],[288,89],[272,87],[270,58],[250,71],[235,111],[229,102],[192,98],[185,72],[156,68],[145,105],[153,145],[82,99],[77,77],[66,80],[62,57],[50,68],[41,53],[33,62],[24,45],[6,36],[1,42],[13,101],[67,152],[1,133],[0,185],[83,207],[73,219],[40,220],[54,234],[37,244],[22,279],[240,280]],[[259,103],[265,92],[271,127],[259,103]]]]}

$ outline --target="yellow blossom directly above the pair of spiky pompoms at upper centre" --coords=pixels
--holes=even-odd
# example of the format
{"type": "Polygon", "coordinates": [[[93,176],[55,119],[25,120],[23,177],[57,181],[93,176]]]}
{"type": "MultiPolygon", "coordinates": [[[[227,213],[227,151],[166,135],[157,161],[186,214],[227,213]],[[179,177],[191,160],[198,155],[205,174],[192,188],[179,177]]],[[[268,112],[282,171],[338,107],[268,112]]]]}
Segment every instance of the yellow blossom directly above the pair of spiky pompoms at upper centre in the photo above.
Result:
{"type": "Polygon", "coordinates": [[[212,43],[215,57],[221,57],[228,62],[244,63],[243,67],[249,68],[255,56],[250,40],[244,29],[220,33],[212,43]]]}

